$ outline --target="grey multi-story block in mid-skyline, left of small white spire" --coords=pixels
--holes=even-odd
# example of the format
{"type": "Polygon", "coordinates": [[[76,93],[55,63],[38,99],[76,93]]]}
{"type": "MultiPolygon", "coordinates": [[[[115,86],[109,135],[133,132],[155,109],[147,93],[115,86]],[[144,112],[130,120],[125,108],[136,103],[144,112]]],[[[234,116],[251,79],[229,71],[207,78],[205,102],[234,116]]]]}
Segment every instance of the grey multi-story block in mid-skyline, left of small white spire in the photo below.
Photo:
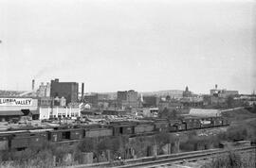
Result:
{"type": "Polygon", "coordinates": [[[134,90],[118,92],[118,106],[119,108],[137,108],[137,92],[134,90]]]}

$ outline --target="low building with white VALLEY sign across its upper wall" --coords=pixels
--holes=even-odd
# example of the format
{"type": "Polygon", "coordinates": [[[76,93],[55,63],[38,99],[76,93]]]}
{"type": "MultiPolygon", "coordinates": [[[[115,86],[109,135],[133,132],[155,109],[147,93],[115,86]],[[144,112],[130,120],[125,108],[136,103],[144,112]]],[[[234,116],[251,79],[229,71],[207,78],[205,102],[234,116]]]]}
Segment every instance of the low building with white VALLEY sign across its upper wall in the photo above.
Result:
{"type": "Polygon", "coordinates": [[[38,99],[29,97],[0,97],[0,121],[29,115],[39,118],[38,99]]]}

